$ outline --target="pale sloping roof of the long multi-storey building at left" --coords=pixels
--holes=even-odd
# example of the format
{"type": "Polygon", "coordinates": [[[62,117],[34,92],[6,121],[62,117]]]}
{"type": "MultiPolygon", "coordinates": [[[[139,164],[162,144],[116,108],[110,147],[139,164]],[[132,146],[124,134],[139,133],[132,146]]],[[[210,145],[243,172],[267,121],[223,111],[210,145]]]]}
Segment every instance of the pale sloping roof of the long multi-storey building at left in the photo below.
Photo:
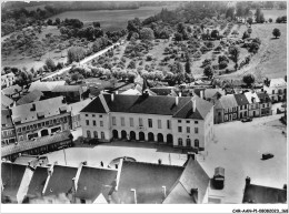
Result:
{"type": "Polygon", "coordinates": [[[21,123],[27,123],[31,121],[37,121],[38,115],[44,115],[44,118],[50,118],[60,114],[60,108],[67,105],[63,103],[63,96],[57,96],[48,100],[36,101],[28,104],[22,104],[12,108],[12,120],[21,121],[21,123]],[[31,109],[36,108],[34,111],[31,109]]]}

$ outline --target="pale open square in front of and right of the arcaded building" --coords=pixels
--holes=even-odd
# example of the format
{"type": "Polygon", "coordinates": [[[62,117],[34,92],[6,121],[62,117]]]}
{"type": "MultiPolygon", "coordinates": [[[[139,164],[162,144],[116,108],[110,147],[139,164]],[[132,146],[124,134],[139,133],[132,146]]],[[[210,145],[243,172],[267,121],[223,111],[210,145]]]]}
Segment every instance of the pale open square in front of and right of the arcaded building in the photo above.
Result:
{"type": "MultiPolygon", "coordinates": [[[[287,183],[287,142],[286,126],[279,122],[279,115],[253,119],[252,122],[240,121],[215,125],[215,141],[198,161],[210,177],[215,167],[225,167],[226,183],[222,203],[241,203],[246,176],[251,183],[282,188],[287,183]],[[261,160],[262,153],[275,156],[261,160]]],[[[81,131],[77,131],[81,135],[81,131]]],[[[71,147],[47,154],[49,162],[78,166],[87,161],[90,166],[104,167],[117,157],[129,156],[139,162],[182,165],[187,155],[179,149],[149,142],[114,141],[91,147],[71,147]]]]}

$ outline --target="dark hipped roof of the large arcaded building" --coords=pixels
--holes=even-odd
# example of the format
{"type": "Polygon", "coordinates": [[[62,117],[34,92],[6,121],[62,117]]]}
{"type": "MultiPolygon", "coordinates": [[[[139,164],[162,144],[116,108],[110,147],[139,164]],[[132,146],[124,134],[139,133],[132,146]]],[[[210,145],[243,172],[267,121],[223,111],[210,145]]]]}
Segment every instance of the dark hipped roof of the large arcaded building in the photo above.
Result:
{"type": "Polygon", "coordinates": [[[176,118],[195,118],[201,119],[205,116],[212,104],[198,99],[197,100],[197,111],[191,112],[191,98],[180,96],[179,104],[176,105],[176,98],[172,96],[161,96],[161,95],[121,95],[114,94],[113,101],[110,94],[100,94],[97,99],[90,102],[81,112],[91,113],[106,113],[104,103],[107,103],[108,110],[110,112],[128,112],[128,113],[143,113],[143,114],[161,114],[161,115],[175,115],[176,118]],[[102,99],[101,99],[102,98],[102,99]],[[104,103],[103,103],[104,102],[104,103]],[[178,114],[177,114],[178,112],[178,114]]]}

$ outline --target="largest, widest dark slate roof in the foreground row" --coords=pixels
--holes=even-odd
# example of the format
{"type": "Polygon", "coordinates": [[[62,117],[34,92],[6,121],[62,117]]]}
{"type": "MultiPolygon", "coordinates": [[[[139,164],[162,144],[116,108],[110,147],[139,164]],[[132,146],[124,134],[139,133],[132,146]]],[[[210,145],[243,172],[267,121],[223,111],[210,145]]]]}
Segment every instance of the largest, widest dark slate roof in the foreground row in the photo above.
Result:
{"type": "Polygon", "coordinates": [[[162,203],[162,186],[166,186],[168,194],[182,171],[182,166],[123,161],[118,191],[112,197],[116,203],[132,204],[134,197],[131,188],[134,188],[139,204],[162,203]]]}

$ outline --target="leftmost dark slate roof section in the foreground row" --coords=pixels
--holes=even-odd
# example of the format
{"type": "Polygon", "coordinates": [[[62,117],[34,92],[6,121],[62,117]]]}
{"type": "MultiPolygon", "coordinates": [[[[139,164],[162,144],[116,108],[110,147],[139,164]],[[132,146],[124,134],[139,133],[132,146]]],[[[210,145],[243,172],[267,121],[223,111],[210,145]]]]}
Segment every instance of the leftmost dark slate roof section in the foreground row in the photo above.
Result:
{"type": "Polygon", "coordinates": [[[2,195],[9,196],[12,202],[17,202],[17,193],[26,172],[24,165],[13,163],[1,164],[1,180],[3,184],[2,195]]]}

